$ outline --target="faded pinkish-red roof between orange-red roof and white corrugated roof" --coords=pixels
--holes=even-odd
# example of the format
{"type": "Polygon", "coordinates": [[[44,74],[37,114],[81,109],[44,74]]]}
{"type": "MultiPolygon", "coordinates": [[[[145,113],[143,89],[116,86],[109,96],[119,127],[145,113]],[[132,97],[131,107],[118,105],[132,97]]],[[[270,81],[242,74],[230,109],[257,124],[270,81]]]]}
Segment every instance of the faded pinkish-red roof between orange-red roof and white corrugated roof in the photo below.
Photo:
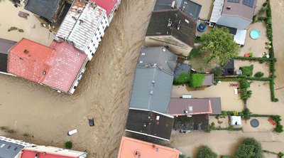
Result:
{"type": "Polygon", "coordinates": [[[87,55],[67,42],[53,41],[50,48],[56,51],[53,68],[45,75],[43,84],[67,93],[77,77],[87,55]]]}

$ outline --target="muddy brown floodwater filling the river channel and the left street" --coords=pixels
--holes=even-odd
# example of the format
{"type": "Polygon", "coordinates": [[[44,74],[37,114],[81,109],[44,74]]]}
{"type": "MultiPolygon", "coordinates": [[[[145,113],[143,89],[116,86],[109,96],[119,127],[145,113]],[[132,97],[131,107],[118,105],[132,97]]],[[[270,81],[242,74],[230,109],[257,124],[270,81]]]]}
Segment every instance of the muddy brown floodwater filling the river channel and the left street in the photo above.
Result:
{"type": "Polygon", "coordinates": [[[0,126],[16,131],[0,131],[0,135],[57,147],[71,140],[73,149],[86,150],[89,157],[116,157],[154,2],[121,2],[75,95],[0,75],[0,126]],[[94,117],[94,127],[89,127],[87,117],[94,117]],[[67,137],[73,129],[77,134],[67,137]],[[33,137],[23,137],[23,133],[33,137]]]}

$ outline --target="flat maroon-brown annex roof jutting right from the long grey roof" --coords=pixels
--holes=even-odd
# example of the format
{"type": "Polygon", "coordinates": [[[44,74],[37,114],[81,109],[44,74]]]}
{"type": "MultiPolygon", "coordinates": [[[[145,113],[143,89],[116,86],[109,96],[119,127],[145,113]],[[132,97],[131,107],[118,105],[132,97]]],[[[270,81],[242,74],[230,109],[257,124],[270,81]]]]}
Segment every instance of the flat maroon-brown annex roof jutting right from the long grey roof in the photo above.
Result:
{"type": "Polygon", "coordinates": [[[200,115],[211,113],[212,105],[208,98],[170,98],[168,106],[168,114],[170,115],[200,115]]]}

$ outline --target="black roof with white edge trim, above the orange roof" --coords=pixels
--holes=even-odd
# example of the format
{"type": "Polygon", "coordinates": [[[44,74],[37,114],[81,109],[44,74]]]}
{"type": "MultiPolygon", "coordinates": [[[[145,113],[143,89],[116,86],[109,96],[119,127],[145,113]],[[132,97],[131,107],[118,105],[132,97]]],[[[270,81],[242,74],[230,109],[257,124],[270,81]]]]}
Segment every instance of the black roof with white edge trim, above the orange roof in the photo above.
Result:
{"type": "Polygon", "coordinates": [[[173,122],[174,118],[170,115],[146,110],[129,109],[126,131],[169,140],[173,129],[173,122]],[[158,120],[157,117],[159,117],[158,120]]]}

